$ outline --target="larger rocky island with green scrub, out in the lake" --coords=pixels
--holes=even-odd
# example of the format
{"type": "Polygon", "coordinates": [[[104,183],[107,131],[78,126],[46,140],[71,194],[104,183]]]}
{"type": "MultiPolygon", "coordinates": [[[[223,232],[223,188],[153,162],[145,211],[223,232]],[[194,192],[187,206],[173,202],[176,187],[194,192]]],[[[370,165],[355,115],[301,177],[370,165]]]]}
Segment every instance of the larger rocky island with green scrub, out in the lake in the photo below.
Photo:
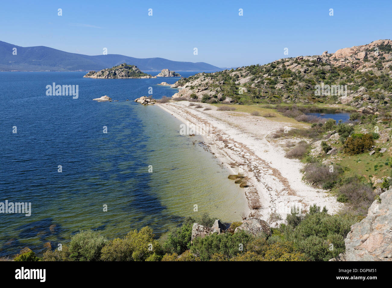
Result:
{"type": "Polygon", "coordinates": [[[99,79],[156,78],[156,76],[143,73],[135,65],[127,65],[127,63],[122,63],[118,66],[103,69],[98,72],[90,71],[83,77],[99,79]]]}

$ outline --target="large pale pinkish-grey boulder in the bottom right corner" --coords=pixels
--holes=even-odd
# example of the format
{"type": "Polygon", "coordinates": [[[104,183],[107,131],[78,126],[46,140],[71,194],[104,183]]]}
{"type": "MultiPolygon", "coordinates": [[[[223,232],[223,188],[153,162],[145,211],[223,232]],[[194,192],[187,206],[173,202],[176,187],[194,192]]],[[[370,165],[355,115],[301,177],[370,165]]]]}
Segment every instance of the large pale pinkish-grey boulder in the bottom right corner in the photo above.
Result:
{"type": "Polygon", "coordinates": [[[345,239],[347,261],[392,261],[392,189],[375,200],[345,239]]]}

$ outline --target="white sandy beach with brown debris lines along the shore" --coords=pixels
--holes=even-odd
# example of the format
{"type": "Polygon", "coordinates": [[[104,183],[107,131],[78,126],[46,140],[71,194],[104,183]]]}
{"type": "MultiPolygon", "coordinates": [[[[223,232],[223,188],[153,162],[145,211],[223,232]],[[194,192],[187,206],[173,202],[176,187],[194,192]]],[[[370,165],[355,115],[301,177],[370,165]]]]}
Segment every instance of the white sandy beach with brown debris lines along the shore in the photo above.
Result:
{"type": "MultiPolygon", "coordinates": [[[[238,211],[248,217],[256,216],[272,226],[284,221],[293,206],[296,212],[309,210],[309,205],[326,206],[330,214],[342,207],[336,198],[326,191],[310,187],[303,181],[300,169],[303,163],[285,158],[282,145],[269,141],[268,135],[292,123],[282,123],[245,112],[218,111],[209,104],[197,103],[212,110],[203,111],[189,107],[188,101],[157,104],[183,123],[209,128],[204,135],[205,144],[222,165],[248,177],[243,188],[249,205],[248,211],[238,211]],[[278,213],[282,220],[270,219],[278,213]]],[[[180,129],[180,127],[179,127],[180,129]]],[[[234,181],[229,180],[228,181],[234,181]]]]}

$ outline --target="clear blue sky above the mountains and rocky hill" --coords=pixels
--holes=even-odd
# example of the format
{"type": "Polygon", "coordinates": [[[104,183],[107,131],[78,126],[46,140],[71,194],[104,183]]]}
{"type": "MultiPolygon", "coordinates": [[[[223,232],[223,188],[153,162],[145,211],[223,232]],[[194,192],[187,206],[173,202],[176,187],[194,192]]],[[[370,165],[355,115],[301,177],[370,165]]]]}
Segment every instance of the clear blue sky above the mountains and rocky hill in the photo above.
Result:
{"type": "Polygon", "coordinates": [[[102,54],[106,47],[108,54],[218,67],[334,53],[392,38],[390,0],[51,0],[2,1],[1,6],[0,40],[15,45],[87,55],[102,54]],[[243,16],[238,15],[240,8],[243,16]],[[329,16],[331,8],[334,16],[329,16]]]}

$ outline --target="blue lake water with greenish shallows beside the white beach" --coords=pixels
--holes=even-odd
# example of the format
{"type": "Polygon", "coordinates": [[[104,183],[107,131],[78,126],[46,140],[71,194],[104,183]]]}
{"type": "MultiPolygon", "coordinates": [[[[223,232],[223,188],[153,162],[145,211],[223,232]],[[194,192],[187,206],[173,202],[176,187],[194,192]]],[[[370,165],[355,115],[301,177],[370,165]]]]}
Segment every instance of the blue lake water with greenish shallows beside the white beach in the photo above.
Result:
{"type": "Polygon", "coordinates": [[[149,225],[160,235],[192,214],[194,204],[200,212],[238,220],[227,207],[245,201],[195,145],[201,139],[181,136],[180,122],[159,107],[133,101],[149,96],[149,87],[156,99],[172,96],[176,89],[156,84],[178,78],[84,74],[0,72],[0,202],[32,205],[30,217],[0,214],[0,256],[24,247],[42,252],[45,243],[57,247],[80,229],[114,238],[149,225]],[[79,85],[79,98],[47,96],[45,87],[53,82],[79,85]],[[92,101],[103,95],[119,101],[92,101]]]}

